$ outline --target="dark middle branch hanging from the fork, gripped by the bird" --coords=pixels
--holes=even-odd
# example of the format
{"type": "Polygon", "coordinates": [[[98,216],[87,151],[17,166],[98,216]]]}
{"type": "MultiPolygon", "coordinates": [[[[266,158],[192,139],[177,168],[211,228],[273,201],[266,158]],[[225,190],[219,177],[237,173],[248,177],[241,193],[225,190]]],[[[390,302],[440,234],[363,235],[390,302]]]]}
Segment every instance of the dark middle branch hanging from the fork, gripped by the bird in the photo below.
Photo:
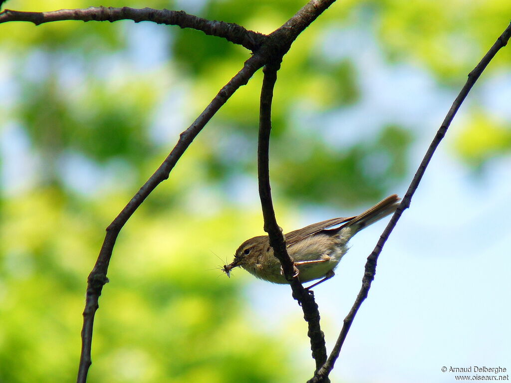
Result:
{"type": "MultiPolygon", "coordinates": [[[[259,196],[264,217],[264,230],[268,233],[270,246],[275,257],[281,261],[284,276],[291,284],[293,298],[298,301],[304,312],[309,331],[307,335],[311,341],[312,357],[316,362],[316,371],[327,361],[327,348],[324,334],[320,327],[318,305],[314,296],[304,289],[298,279],[294,262],[286,249],[286,241],[282,229],[277,225],[275,211],[271,200],[271,187],[269,176],[269,146],[271,132],[271,102],[273,87],[277,79],[277,70],[280,60],[272,61],[263,69],[264,78],[261,90],[261,109],[259,114],[259,142],[258,142],[258,179],[259,196]]],[[[328,378],[327,378],[328,379],[328,378]]]]}

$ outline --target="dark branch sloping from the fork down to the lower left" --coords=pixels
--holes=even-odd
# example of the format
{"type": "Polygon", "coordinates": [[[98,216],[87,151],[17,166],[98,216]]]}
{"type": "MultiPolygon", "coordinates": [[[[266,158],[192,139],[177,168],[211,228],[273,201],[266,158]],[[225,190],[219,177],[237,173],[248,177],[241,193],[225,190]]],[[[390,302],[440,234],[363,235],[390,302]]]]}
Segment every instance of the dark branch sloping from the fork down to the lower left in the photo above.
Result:
{"type": "Polygon", "coordinates": [[[98,301],[103,289],[103,285],[108,282],[106,277],[108,264],[112,256],[115,240],[124,224],[132,216],[135,210],[144,202],[152,190],[162,181],[169,178],[169,174],[182,156],[184,151],[190,146],[193,139],[199,134],[202,128],[210,121],[211,117],[225,104],[231,95],[242,85],[245,85],[250,77],[263,66],[263,60],[259,55],[249,58],[243,68],[233,77],[215,96],[211,103],[197,117],[194,123],[179,136],[176,146],[165,161],[158,167],[156,172],[147,180],[147,182],[138,190],[135,196],[128,202],[119,215],[107,227],[105,240],[101,247],[98,260],[94,269],[87,278],[87,293],[85,300],[85,309],[83,312],[82,327],[82,350],[80,355],[80,365],[78,370],[78,383],[85,383],[87,372],[91,364],[90,350],[92,344],[92,325],[94,315],[98,309],[98,301]]]}

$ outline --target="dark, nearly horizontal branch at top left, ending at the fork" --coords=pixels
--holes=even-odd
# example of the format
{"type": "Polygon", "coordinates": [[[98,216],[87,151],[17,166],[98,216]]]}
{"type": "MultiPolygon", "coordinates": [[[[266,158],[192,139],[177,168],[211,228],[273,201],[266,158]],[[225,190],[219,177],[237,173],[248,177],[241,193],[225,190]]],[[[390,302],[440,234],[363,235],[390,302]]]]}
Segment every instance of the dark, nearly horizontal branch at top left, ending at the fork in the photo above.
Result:
{"type": "Polygon", "coordinates": [[[135,22],[152,21],[158,24],[176,25],[181,28],[192,28],[206,35],[223,37],[227,41],[243,45],[250,51],[255,51],[263,42],[265,35],[246,30],[233,22],[207,20],[190,15],[184,11],[169,11],[168,9],[153,8],[113,8],[89,7],[86,9],[60,9],[51,12],[21,12],[4,10],[0,13],[0,23],[8,21],[29,21],[35,25],[44,22],[62,20],[82,21],[118,21],[133,20],[135,22]]]}

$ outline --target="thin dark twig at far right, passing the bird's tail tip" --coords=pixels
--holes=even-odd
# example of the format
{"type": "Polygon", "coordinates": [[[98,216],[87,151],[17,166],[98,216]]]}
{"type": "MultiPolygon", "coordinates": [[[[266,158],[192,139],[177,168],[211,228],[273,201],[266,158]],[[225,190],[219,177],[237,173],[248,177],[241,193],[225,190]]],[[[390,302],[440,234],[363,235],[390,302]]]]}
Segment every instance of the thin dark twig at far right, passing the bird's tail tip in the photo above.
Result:
{"type": "Polygon", "coordinates": [[[344,340],[346,339],[347,333],[350,330],[350,327],[353,323],[353,320],[355,319],[355,315],[358,312],[358,309],[362,305],[362,302],[367,298],[367,294],[369,292],[369,288],[371,286],[371,282],[375,278],[376,274],[376,264],[378,261],[378,256],[380,255],[383,246],[385,242],[387,241],[388,236],[398,223],[401,214],[405,209],[410,207],[410,202],[412,199],[413,194],[415,193],[415,190],[419,186],[419,183],[421,182],[421,179],[424,175],[424,172],[426,171],[426,167],[429,164],[429,161],[433,157],[433,154],[438,147],[438,144],[442,139],[444,138],[447,129],[451,125],[451,122],[456,115],[456,112],[458,111],[459,107],[467,97],[467,94],[469,93],[470,89],[474,86],[475,82],[481,76],[482,71],[486,68],[486,66],[490,63],[490,61],[494,58],[494,56],[497,54],[497,52],[504,46],[506,46],[507,41],[511,37],[511,24],[505,29],[505,31],[500,35],[500,37],[495,41],[495,43],[492,45],[490,50],[484,55],[482,60],[477,64],[477,66],[469,73],[469,78],[461,91],[458,94],[458,97],[456,97],[456,100],[454,100],[454,103],[451,106],[451,109],[447,113],[444,122],[442,125],[440,125],[440,128],[436,132],[435,137],[433,138],[433,141],[431,142],[431,145],[428,148],[428,151],[426,152],[426,155],[424,156],[424,159],[421,162],[421,165],[419,166],[419,169],[417,169],[417,172],[415,173],[415,176],[412,179],[412,182],[410,183],[410,186],[408,186],[408,190],[406,191],[406,194],[399,204],[396,212],[393,214],[390,222],[388,223],[387,227],[383,231],[382,235],[380,236],[380,240],[376,244],[375,249],[369,257],[367,258],[367,262],[365,264],[365,273],[364,277],[362,279],[362,288],[360,289],[360,292],[358,293],[357,299],[355,300],[355,303],[353,304],[353,307],[350,310],[350,313],[344,318],[344,322],[342,325],[341,332],[339,334],[339,337],[337,338],[337,342],[335,343],[334,348],[332,349],[332,352],[328,358],[327,363],[324,364],[323,367],[319,369],[319,371],[316,373],[316,375],[309,380],[308,383],[317,383],[325,381],[324,379],[328,377],[330,374],[330,371],[334,368],[335,361],[339,357],[339,353],[341,351],[342,344],[344,343],[344,340]]]}

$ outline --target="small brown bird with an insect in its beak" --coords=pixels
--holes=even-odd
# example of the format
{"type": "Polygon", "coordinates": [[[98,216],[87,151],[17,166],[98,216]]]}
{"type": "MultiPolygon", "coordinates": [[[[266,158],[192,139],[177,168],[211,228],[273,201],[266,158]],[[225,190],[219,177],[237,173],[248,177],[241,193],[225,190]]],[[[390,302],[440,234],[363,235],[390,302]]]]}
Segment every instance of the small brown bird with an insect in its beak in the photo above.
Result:
{"type": "MultiPolygon", "coordinates": [[[[350,238],[382,218],[393,213],[399,204],[397,195],[385,198],[356,217],[321,221],[285,235],[288,254],[294,260],[301,282],[323,278],[313,286],[334,276],[334,269],[349,249],[350,238]],[[341,225],[330,229],[333,226],[341,225]]],[[[282,273],[280,261],[273,255],[268,236],[261,235],[243,242],[234,260],[223,271],[241,266],[257,278],[273,283],[289,283],[282,273]]]]}

